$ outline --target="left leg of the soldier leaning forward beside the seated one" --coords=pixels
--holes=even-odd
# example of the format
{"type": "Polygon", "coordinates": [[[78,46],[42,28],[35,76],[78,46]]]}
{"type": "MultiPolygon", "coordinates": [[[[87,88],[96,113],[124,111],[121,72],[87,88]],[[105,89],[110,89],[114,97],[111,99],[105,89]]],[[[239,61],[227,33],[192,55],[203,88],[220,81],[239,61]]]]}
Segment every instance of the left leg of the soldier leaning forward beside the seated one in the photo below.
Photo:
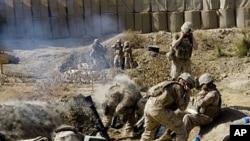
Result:
{"type": "Polygon", "coordinates": [[[140,141],[152,141],[159,127],[159,123],[147,114],[145,114],[144,117],[144,132],[142,133],[140,141]]]}

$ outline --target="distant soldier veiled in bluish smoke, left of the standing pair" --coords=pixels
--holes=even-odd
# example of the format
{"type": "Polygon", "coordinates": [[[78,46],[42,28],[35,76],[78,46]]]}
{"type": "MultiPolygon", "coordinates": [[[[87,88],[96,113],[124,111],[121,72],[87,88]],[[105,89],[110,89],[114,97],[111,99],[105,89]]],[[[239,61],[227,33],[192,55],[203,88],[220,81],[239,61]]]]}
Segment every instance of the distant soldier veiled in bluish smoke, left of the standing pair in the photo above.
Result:
{"type": "Polygon", "coordinates": [[[100,43],[98,39],[94,40],[90,51],[90,57],[95,68],[108,68],[109,65],[105,58],[107,49],[100,43]]]}

